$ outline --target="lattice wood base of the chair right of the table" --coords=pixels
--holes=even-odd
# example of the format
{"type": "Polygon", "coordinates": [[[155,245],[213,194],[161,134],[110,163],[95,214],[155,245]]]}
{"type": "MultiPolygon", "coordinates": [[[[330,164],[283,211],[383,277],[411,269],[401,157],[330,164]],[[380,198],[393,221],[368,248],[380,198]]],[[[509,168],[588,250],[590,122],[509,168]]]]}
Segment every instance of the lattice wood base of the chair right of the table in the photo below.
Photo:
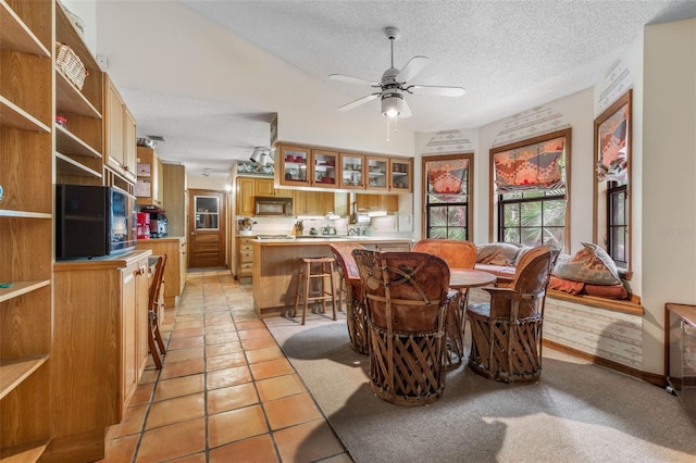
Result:
{"type": "Polygon", "coordinates": [[[471,352],[469,367],[501,383],[536,383],[542,376],[540,317],[490,321],[469,312],[471,352]],[[512,348],[509,349],[510,339],[512,348]]]}

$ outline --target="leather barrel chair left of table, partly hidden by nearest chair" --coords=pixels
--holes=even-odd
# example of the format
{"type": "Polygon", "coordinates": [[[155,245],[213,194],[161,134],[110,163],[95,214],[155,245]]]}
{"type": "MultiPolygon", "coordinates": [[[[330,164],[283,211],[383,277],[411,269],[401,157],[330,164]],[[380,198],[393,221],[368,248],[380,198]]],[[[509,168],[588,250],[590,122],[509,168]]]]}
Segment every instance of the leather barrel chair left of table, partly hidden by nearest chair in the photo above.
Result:
{"type": "MultiPolygon", "coordinates": [[[[334,259],[338,264],[340,275],[343,300],[344,289],[346,293],[346,318],[350,347],[358,353],[368,353],[368,320],[365,317],[365,295],[358,265],[352,256],[356,249],[365,249],[362,245],[341,242],[328,245],[334,259]]],[[[341,303],[339,302],[339,305],[341,303]]]]}

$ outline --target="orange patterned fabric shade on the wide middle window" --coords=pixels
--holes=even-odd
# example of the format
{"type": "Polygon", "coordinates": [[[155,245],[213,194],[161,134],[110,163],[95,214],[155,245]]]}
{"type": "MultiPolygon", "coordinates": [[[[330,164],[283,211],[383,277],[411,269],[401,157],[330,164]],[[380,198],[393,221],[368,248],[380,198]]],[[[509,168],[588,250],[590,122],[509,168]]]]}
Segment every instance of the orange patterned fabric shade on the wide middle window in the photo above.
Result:
{"type": "Polygon", "coordinates": [[[496,189],[499,193],[563,188],[566,138],[559,137],[494,154],[496,189]]]}

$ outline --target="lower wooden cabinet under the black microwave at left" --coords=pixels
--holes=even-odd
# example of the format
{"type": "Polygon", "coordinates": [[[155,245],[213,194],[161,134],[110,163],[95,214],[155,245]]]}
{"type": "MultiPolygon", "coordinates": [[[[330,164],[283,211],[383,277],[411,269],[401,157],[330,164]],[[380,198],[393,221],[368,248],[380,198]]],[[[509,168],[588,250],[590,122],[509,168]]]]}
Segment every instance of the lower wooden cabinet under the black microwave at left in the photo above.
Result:
{"type": "Polygon", "coordinates": [[[54,264],[55,434],[46,461],[103,458],[104,428],[121,422],[148,358],[150,254],[54,264]]]}

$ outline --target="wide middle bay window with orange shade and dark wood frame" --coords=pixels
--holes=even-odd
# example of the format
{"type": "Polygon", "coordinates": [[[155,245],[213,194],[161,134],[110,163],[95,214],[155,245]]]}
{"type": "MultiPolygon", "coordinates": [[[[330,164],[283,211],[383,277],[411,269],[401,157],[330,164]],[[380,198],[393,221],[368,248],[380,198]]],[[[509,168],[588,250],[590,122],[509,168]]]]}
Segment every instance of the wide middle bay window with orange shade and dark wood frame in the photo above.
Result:
{"type": "Polygon", "coordinates": [[[567,247],[570,137],[569,128],[490,150],[498,241],[567,247]]]}

